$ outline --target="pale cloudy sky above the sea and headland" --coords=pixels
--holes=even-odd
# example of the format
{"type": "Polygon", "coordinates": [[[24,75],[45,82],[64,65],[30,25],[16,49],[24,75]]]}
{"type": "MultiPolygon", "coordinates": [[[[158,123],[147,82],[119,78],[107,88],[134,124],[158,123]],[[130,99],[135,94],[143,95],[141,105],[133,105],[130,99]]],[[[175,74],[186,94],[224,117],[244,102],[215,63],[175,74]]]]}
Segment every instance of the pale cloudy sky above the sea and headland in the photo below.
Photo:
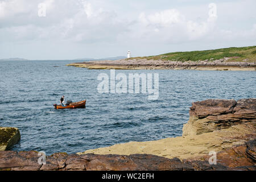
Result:
{"type": "Polygon", "coordinates": [[[0,59],[255,46],[255,7],[255,0],[0,0],[0,59]]]}

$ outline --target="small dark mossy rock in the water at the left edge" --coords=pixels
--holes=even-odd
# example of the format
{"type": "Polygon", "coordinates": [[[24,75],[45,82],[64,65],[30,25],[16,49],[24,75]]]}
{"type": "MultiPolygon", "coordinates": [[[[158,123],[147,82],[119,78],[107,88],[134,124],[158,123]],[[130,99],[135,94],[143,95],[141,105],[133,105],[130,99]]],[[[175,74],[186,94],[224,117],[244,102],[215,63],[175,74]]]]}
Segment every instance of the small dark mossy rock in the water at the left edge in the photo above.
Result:
{"type": "Polygon", "coordinates": [[[0,151],[8,150],[20,140],[19,130],[15,127],[0,127],[0,151]]]}

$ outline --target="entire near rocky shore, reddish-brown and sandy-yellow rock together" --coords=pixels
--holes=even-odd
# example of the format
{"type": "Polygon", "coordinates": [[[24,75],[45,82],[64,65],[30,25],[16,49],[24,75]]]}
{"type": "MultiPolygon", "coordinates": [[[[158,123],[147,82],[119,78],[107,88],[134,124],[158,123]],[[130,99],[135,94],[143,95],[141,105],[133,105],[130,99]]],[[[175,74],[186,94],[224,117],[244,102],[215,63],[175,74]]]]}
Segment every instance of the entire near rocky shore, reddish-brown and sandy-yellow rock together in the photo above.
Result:
{"type": "Polygon", "coordinates": [[[0,151],[0,170],[253,170],[256,98],[193,102],[183,136],[57,153],[39,164],[36,151],[0,151]],[[210,152],[216,164],[210,164],[210,152]]]}

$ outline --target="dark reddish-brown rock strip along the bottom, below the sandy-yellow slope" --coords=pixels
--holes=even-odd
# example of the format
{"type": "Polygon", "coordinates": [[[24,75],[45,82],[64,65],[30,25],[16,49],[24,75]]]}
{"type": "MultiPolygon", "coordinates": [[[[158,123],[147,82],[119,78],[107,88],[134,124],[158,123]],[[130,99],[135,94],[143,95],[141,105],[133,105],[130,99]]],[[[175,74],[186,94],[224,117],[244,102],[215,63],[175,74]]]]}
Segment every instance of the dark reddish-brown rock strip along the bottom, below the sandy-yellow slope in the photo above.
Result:
{"type": "MultiPolygon", "coordinates": [[[[46,171],[191,171],[191,170],[255,170],[255,140],[216,154],[217,163],[209,164],[209,155],[200,158],[168,159],[156,155],[95,155],[56,153],[46,157],[46,164],[39,164],[36,151],[0,151],[0,170],[46,171]],[[254,147],[252,147],[254,146],[254,147]],[[253,155],[252,155],[253,153],[253,155]]],[[[39,160],[40,161],[40,160],[39,160]]]]}

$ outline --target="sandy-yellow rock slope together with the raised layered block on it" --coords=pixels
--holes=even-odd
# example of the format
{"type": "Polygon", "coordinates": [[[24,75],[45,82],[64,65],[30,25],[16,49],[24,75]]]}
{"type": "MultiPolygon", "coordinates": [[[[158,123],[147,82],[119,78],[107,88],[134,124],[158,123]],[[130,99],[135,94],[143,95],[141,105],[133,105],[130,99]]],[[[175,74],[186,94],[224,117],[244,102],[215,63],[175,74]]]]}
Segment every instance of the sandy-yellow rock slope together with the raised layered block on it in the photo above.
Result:
{"type": "Polygon", "coordinates": [[[79,154],[152,154],[189,159],[224,151],[256,138],[256,99],[194,102],[183,136],[148,142],[129,142],[79,154]]]}

